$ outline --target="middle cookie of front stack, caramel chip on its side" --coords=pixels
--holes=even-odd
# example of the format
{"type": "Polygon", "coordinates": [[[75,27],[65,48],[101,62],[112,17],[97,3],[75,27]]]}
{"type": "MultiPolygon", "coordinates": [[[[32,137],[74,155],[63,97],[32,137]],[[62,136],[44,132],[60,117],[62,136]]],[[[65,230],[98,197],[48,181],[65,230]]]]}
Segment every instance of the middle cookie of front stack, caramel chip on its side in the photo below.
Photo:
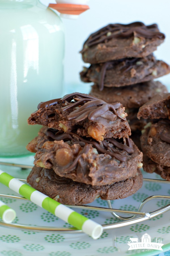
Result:
{"type": "Polygon", "coordinates": [[[93,186],[134,177],[143,156],[129,139],[106,138],[96,142],[73,132],[47,128],[41,129],[27,149],[36,152],[36,166],[52,168],[59,176],[93,186]]]}

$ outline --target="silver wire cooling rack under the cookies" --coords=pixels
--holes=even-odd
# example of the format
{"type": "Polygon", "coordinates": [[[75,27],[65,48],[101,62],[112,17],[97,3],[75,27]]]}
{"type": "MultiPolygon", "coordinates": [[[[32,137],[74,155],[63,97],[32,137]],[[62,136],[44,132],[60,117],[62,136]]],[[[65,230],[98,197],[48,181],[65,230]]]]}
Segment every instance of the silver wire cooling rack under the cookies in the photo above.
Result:
{"type": "MultiPolygon", "coordinates": [[[[23,165],[23,164],[15,164],[15,163],[5,163],[0,162],[0,165],[8,165],[13,167],[20,167],[22,169],[29,169],[33,166],[30,165],[23,165]]],[[[26,179],[19,179],[20,181],[26,182],[26,179]]],[[[154,183],[170,183],[169,181],[160,180],[160,179],[147,179],[143,178],[143,181],[145,182],[154,182],[154,183]]],[[[17,199],[17,200],[27,200],[26,198],[22,196],[13,196],[13,195],[7,195],[7,194],[0,194],[0,197],[3,198],[10,198],[10,199],[17,199]]],[[[112,203],[110,200],[107,200],[108,207],[96,207],[96,206],[90,206],[90,205],[67,205],[71,208],[80,208],[80,209],[88,209],[93,211],[103,211],[111,213],[112,216],[114,216],[116,219],[118,219],[118,222],[114,222],[112,224],[102,224],[104,230],[119,228],[128,226],[134,223],[138,223],[141,221],[146,221],[148,219],[152,219],[153,217],[156,217],[162,213],[165,213],[166,211],[170,210],[170,203],[164,207],[161,207],[159,209],[156,209],[151,212],[144,212],[142,211],[144,205],[148,203],[151,200],[154,199],[170,199],[170,196],[162,196],[162,195],[153,195],[145,198],[139,205],[137,211],[128,211],[128,210],[120,210],[120,209],[114,209],[112,208],[112,203]],[[123,214],[123,216],[122,216],[123,214]],[[125,216],[124,216],[125,215],[125,216]]],[[[170,201],[169,201],[170,202],[170,201]]],[[[64,227],[46,227],[46,226],[28,226],[25,224],[15,224],[15,223],[4,223],[3,221],[0,221],[0,226],[8,227],[8,228],[15,228],[15,229],[24,229],[24,230],[31,230],[35,232],[65,232],[65,233],[78,233],[82,232],[81,230],[77,230],[75,228],[64,228],[64,227]]]]}

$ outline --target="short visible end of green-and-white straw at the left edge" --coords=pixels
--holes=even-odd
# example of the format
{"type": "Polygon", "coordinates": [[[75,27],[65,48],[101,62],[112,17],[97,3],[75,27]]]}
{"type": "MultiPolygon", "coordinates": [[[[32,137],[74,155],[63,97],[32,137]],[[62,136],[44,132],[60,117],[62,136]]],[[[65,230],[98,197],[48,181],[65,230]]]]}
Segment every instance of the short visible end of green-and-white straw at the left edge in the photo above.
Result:
{"type": "Polygon", "coordinates": [[[0,200],[0,218],[5,223],[11,223],[16,217],[16,212],[0,200]]]}

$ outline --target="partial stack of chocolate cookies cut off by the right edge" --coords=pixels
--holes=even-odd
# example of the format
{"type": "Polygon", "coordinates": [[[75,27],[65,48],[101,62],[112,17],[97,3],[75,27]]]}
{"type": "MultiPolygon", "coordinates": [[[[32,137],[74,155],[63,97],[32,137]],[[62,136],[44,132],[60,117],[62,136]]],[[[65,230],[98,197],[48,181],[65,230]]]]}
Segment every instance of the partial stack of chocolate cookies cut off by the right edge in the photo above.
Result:
{"type": "Polygon", "coordinates": [[[143,169],[170,181],[170,93],[154,96],[137,117],[150,120],[141,135],[143,169]]]}

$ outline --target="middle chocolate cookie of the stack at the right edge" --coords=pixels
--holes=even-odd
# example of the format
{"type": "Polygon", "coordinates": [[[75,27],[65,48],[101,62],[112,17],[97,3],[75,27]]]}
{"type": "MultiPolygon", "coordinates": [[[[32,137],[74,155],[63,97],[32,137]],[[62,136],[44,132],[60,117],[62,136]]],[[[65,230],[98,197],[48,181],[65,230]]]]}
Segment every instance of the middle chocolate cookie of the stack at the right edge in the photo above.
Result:
{"type": "Polygon", "coordinates": [[[164,119],[147,126],[141,135],[144,154],[152,161],[170,167],[170,121],[164,119]]]}

